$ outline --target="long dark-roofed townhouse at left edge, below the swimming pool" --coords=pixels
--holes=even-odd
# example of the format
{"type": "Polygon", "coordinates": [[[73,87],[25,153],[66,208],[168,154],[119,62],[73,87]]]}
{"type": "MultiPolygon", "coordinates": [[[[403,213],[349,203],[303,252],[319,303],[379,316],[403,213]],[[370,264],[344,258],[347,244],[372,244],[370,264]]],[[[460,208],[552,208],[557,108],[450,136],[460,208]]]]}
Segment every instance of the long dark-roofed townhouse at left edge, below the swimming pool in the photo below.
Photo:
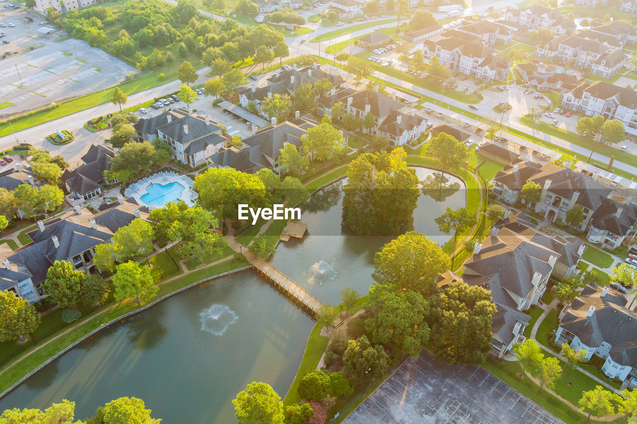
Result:
{"type": "Polygon", "coordinates": [[[56,260],[87,273],[95,271],[95,246],[110,243],[115,231],[136,218],[148,220],[148,209],[119,196],[95,214],[76,206],[59,218],[38,221],[38,228],[27,233],[32,243],[15,252],[0,245],[0,290],[10,290],[30,303],[39,302],[46,297],[41,283],[56,260]]]}

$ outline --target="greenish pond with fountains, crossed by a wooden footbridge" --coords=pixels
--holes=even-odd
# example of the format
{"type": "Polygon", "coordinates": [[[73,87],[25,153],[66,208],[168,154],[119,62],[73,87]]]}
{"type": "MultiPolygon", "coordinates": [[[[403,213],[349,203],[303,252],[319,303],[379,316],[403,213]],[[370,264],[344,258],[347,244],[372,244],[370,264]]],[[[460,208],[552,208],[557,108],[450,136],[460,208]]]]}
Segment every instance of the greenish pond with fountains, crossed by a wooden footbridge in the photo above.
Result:
{"type": "MultiPolygon", "coordinates": [[[[419,180],[433,171],[417,168],[419,180]]],[[[452,181],[460,182],[455,178],[452,181]]],[[[272,264],[319,300],[343,287],[367,293],[373,257],[392,237],[359,237],[341,225],[344,181],[303,206],[308,234],[278,246],[272,264]]],[[[464,187],[464,186],[462,186],[464,187]]],[[[436,202],[420,195],[414,229],[450,239],[434,218],[466,204],[464,188],[436,202]]],[[[0,411],[76,402],[76,418],[121,396],[143,399],[166,423],[235,422],[231,400],[252,381],[285,396],[313,322],[254,271],[196,286],[105,329],[0,400],[0,411]]]]}

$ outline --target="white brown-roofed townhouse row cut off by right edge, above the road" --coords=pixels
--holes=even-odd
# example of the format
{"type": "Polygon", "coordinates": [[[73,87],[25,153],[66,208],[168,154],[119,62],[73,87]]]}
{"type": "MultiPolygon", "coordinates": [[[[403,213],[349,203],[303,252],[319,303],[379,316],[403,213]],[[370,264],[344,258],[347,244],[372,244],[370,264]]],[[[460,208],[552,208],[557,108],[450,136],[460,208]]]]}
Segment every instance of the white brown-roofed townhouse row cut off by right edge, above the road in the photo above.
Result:
{"type": "Polygon", "coordinates": [[[562,88],[560,99],[564,108],[580,111],[587,117],[601,115],[620,120],[626,132],[637,134],[637,92],[632,87],[604,81],[580,83],[568,91],[562,88]]]}

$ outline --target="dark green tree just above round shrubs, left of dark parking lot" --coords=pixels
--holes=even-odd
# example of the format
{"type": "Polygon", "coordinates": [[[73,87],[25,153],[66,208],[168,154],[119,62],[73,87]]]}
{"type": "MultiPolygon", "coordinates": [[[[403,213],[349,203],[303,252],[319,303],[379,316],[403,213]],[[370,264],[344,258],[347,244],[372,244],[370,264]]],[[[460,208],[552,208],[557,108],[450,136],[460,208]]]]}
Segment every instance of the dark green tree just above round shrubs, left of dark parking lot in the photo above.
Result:
{"type": "Polygon", "coordinates": [[[387,371],[387,354],[383,346],[371,346],[366,336],[348,341],[342,359],[343,374],[352,387],[366,385],[387,371]]]}

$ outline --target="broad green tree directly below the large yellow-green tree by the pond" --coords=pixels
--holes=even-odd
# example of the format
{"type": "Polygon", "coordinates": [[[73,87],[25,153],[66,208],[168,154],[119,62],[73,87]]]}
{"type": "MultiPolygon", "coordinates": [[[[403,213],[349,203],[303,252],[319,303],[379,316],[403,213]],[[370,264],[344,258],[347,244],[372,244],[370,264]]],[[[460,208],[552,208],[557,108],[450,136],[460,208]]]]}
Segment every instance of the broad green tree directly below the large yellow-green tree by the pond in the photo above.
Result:
{"type": "Polygon", "coordinates": [[[365,310],[372,313],[365,320],[365,330],[374,343],[391,342],[403,353],[418,356],[429,341],[429,304],[418,292],[398,292],[394,285],[375,284],[369,289],[365,310]]]}

